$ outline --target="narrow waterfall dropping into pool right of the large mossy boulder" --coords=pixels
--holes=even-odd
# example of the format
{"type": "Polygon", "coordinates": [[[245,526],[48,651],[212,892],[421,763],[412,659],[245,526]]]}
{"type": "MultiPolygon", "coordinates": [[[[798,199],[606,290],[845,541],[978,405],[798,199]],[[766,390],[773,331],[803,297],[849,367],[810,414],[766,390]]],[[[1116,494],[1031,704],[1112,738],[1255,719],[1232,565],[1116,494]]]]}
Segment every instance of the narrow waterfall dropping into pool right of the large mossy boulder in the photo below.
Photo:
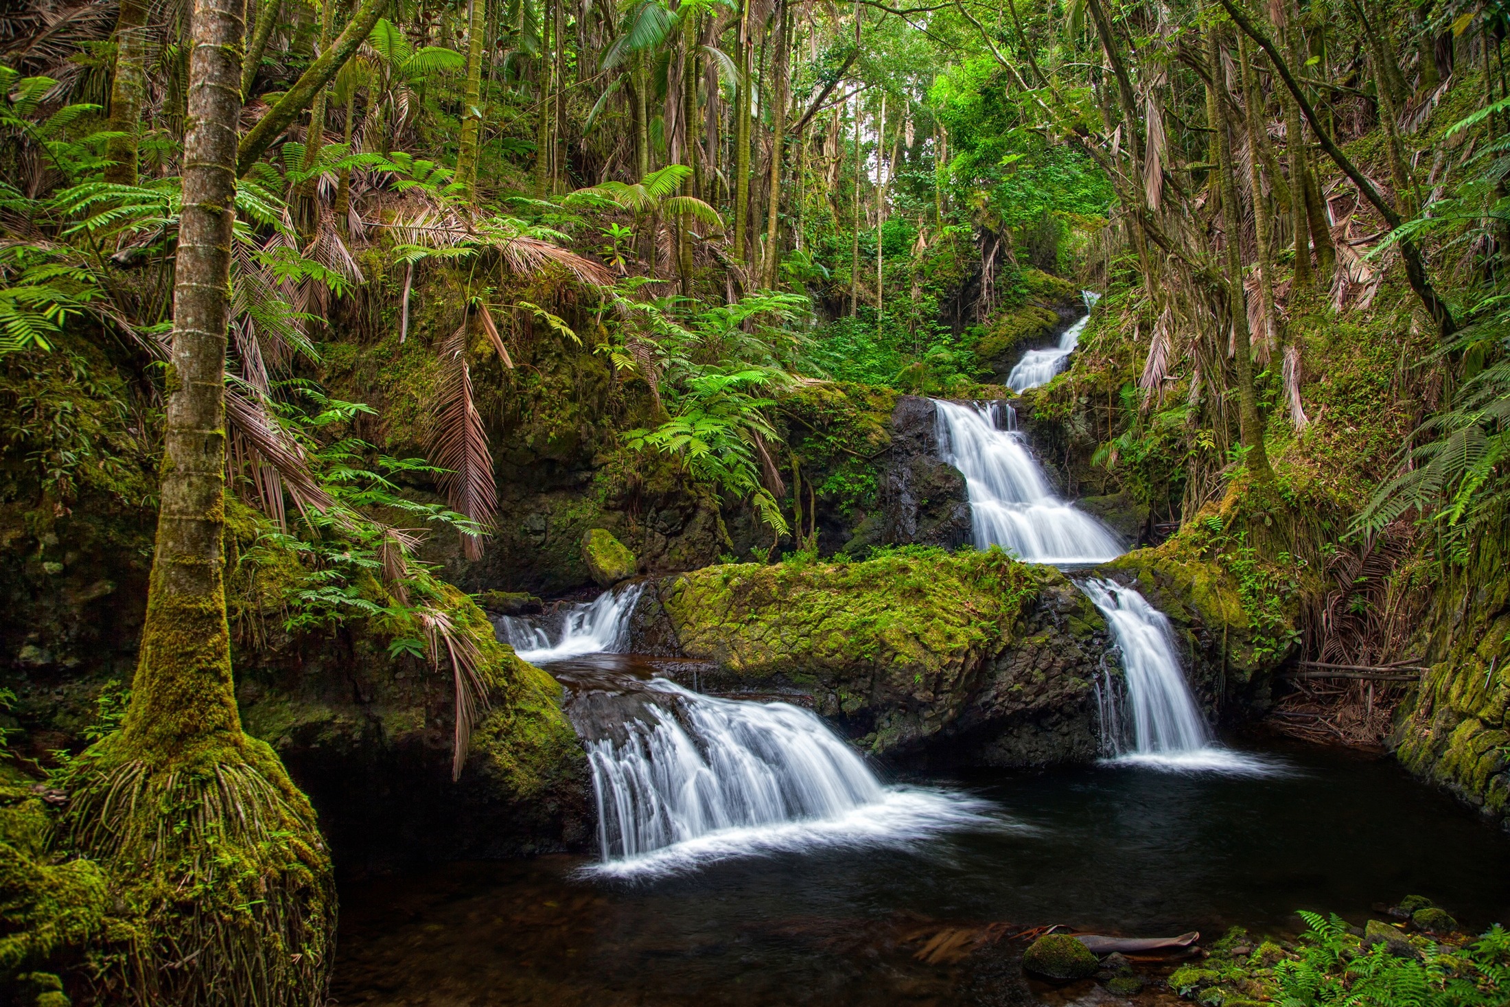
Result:
{"type": "Polygon", "coordinates": [[[1096,687],[1102,749],[1113,761],[1175,770],[1273,771],[1273,764],[1217,744],[1185,682],[1164,613],[1110,580],[1086,580],[1080,589],[1105,616],[1122,652],[1125,702],[1110,676],[1096,687]]]}

